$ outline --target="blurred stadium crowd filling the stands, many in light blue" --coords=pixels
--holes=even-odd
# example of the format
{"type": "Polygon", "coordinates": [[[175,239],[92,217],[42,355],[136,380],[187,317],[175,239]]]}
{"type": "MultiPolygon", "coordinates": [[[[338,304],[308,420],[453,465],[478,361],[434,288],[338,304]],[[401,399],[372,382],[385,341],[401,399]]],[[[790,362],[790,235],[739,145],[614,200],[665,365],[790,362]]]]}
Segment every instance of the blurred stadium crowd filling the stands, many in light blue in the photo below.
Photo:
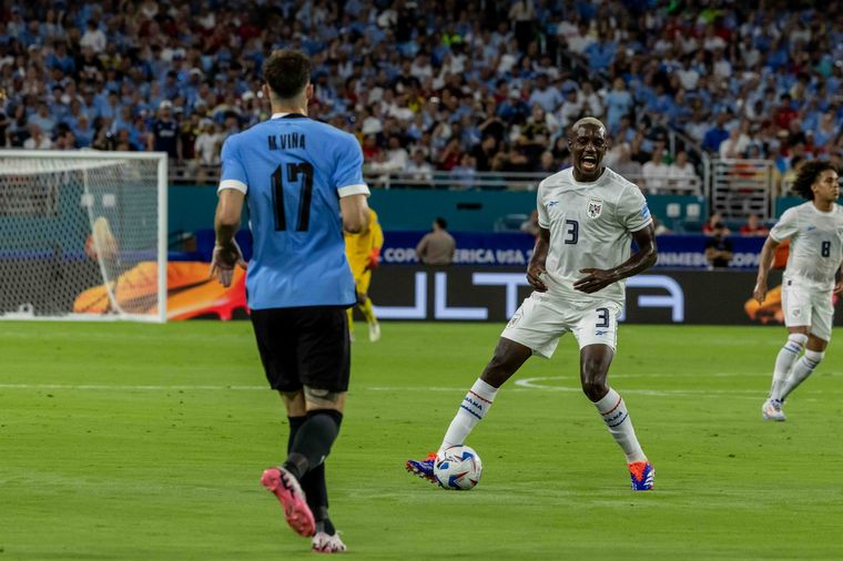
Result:
{"type": "Polygon", "coordinates": [[[201,180],[227,135],[268,116],[261,64],[292,47],[318,69],[312,116],[356,134],[370,173],[553,172],[583,115],[609,128],[607,164],[651,187],[695,174],[699,150],[840,165],[835,7],[7,0],[0,146],[161,150],[201,180]]]}

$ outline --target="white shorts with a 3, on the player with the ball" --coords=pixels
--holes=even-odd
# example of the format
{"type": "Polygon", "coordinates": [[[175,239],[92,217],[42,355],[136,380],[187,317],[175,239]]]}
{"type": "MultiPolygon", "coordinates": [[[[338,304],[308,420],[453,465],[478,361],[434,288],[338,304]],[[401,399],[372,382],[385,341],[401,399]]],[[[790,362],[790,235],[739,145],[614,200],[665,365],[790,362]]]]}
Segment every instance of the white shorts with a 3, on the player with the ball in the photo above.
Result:
{"type": "Polygon", "coordinates": [[[620,312],[621,304],[616,300],[570,302],[535,292],[516,310],[500,336],[545,358],[553,356],[559,337],[568,332],[580,348],[608,345],[615,350],[620,312]]]}

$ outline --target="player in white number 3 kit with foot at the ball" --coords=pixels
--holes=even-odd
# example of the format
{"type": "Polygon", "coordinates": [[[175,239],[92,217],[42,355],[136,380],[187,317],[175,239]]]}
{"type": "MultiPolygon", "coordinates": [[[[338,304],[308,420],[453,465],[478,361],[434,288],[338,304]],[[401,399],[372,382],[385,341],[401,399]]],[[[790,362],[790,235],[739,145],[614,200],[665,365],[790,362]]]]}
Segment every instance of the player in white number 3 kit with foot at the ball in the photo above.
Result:
{"type": "MultiPolygon", "coordinates": [[[[465,443],[498,388],[531,356],[550,358],[571,332],[580,347],[582,391],[627,457],[632,489],[652,489],[654,471],[636,437],[623,399],[607,384],[617,344],[624,282],[656,263],[656,234],[641,191],[602,165],[606,126],[577,121],[568,136],[573,167],[539,184],[539,235],[527,268],[535,288],[498,339],[495,355],[466,395],[439,452],[465,443]],[[630,241],[638,252],[630,257],[630,241]]],[[[435,481],[436,455],[407,470],[435,481]]]]}

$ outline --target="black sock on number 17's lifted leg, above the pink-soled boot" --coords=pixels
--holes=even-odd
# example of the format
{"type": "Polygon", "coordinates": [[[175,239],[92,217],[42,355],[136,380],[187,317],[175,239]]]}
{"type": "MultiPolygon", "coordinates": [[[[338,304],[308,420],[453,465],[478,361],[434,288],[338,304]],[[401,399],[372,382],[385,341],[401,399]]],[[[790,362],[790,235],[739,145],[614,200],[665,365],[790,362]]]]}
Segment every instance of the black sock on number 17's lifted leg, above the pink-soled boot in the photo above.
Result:
{"type": "Polygon", "coordinates": [[[307,419],[296,432],[284,468],[301,480],[305,473],[325,461],[342,422],[343,414],[334,409],[307,411],[307,419]]]}

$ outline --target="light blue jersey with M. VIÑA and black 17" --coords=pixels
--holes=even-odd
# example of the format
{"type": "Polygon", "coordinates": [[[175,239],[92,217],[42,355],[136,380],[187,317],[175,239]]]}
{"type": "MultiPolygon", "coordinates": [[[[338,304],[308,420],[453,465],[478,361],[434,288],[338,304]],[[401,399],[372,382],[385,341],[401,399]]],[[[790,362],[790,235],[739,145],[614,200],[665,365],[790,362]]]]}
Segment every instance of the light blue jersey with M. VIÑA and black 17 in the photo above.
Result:
{"type": "Polygon", "coordinates": [[[230,136],[222,164],[219,191],[241,191],[248,205],[248,306],[352,306],[339,197],[369,194],[357,140],[299,114],[275,114],[230,136]]]}

